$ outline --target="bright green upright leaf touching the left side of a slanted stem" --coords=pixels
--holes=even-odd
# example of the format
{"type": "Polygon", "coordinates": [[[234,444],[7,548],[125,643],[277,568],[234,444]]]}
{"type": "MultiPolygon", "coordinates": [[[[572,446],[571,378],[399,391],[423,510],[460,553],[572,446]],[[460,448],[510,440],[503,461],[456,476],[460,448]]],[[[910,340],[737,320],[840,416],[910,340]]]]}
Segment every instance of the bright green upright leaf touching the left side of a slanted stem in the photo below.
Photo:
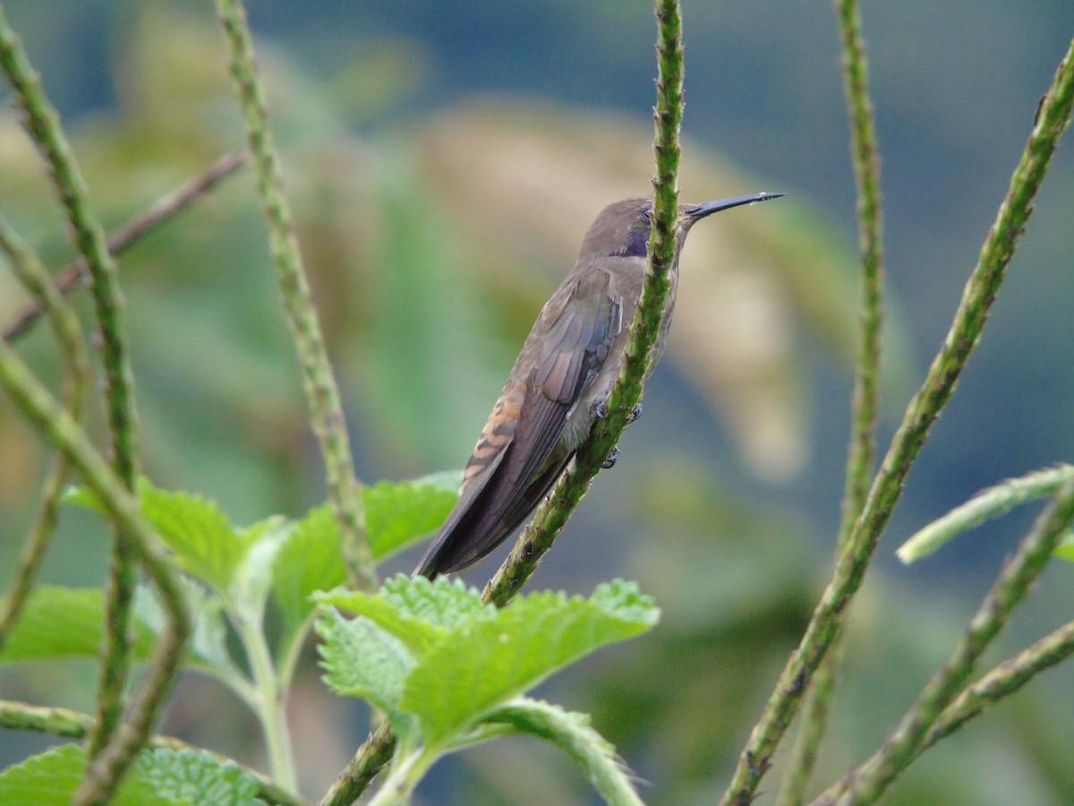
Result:
{"type": "Polygon", "coordinates": [[[285,538],[273,565],[273,596],[285,631],[296,630],[313,613],[315,591],[331,590],[347,579],[339,528],[329,504],[310,509],[285,538]]]}

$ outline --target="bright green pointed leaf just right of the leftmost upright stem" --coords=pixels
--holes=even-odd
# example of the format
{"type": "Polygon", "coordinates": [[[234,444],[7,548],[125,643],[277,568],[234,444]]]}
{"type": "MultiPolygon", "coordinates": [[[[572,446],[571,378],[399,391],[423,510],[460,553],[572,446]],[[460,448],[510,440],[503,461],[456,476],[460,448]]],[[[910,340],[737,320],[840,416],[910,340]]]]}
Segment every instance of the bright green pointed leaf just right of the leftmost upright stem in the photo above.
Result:
{"type": "Polygon", "coordinates": [[[159,490],[139,484],[142,510],[184,571],[227,594],[249,543],[231,528],[228,516],[212,501],[187,492],[159,490]]]}

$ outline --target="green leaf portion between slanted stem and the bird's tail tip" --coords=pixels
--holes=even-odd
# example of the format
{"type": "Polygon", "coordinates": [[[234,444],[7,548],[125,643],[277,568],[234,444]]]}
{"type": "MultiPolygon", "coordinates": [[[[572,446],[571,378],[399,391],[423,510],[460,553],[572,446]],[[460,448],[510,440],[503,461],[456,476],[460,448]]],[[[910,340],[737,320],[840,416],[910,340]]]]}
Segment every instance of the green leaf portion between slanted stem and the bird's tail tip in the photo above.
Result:
{"type": "Polygon", "coordinates": [[[374,559],[382,560],[438,529],[459,499],[459,473],[362,488],[365,530],[374,559]]]}

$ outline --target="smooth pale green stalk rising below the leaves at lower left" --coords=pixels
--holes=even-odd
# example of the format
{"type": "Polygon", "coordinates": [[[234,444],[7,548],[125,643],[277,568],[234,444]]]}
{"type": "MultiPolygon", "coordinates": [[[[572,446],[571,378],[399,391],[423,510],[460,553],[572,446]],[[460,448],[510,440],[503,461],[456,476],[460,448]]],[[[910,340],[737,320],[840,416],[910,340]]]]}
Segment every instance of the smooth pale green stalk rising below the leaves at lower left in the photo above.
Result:
{"type": "Polygon", "coordinates": [[[259,615],[251,614],[236,615],[232,619],[250,663],[256,691],[252,705],[265,737],[273,778],[285,789],[294,791],[299,788],[299,776],[291,750],[291,731],[287,724],[287,690],[276,676],[260,621],[259,615]]]}

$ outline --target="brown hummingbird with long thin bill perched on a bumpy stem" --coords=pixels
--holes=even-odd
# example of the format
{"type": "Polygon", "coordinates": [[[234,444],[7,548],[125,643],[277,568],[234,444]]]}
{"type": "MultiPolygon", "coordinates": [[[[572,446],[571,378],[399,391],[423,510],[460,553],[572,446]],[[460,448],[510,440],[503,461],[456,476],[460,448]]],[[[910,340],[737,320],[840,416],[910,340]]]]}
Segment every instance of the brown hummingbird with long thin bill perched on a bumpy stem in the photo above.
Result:
{"type": "MultiPolygon", "coordinates": [[[[664,351],[679,255],[690,228],[721,210],[780,196],[756,193],[679,207],[670,293],[650,372],[664,351]]],[[[652,199],[625,199],[600,211],[582,241],[578,262],[526,336],[463,471],[459,502],[418,563],[416,576],[432,579],[462,571],[506,541],[551,489],[594,422],[607,415],[641,299],[652,210],[652,199]]],[[[611,466],[615,456],[613,449],[605,466],[611,466]]]]}

